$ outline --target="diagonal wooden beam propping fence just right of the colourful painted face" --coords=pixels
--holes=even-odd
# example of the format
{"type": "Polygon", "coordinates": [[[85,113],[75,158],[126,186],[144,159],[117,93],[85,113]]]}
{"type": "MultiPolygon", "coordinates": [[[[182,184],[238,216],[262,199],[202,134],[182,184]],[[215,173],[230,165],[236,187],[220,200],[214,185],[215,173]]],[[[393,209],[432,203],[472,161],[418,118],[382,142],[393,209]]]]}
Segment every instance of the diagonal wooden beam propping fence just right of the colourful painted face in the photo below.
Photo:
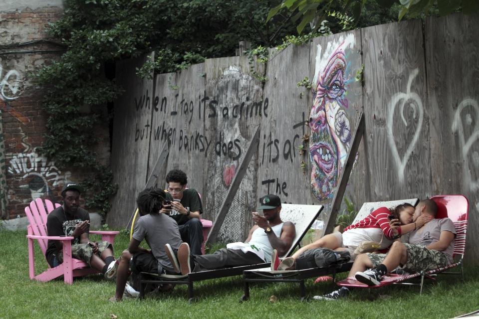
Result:
{"type": "Polygon", "coordinates": [[[348,157],[346,158],[346,163],[343,167],[343,173],[339,179],[338,188],[336,188],[336,193],[334,194],[333,204],[331,206],[331,212],[329,215],[326,215],[324,230],[324,235],[330,234],[333,231],[334,223],[336,222],[336,217],[338,216],[339,208],[341,207],[341,201],[343,200],[344,192],[346,191],[346,186],[348,184],[349,175],[353,168],[354,159],[358,153],[359,144],[361,143],[361,138],[364,134],[364,114],[363,112],[359,113],[358,121],[356,124],[356,130],[354,131],[354,136],[351,143],[351,148],[349,149],[348,157]]]}

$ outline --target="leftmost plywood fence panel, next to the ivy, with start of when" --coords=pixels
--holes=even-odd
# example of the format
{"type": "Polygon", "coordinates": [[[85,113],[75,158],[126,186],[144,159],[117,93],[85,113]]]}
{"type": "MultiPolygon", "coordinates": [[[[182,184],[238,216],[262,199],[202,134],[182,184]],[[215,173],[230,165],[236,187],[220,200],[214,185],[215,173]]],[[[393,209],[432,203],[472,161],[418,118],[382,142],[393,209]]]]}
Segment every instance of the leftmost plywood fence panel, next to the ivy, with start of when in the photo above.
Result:
{"type": "Polygon", "coordinates": [[[136,208],[136,196],[147,179],[148,146],[151,134],[153,81],[140,79],[135,68],[145,58],[117,63],[117,83],[124,93],[115,102],[111,168],[119,185],[107,215],[111,226],[124,226],[136,208]]]}

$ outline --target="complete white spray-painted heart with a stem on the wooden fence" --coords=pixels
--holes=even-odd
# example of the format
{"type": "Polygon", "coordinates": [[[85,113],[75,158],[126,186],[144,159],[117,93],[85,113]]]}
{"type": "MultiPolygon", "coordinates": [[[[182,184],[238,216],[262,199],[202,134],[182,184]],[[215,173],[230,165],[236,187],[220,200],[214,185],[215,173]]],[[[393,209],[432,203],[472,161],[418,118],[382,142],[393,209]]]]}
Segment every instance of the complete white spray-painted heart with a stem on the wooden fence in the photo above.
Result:
{"type": "Polygon", "coordinates": [[[414,78],[418,75],[419,69],[414,69],[411,74],[409,75],[408,86],[406,89],[406,93],[398,92],[391,98],[391,102],[389,103],[389,113],[387,119],[387,135],[388,135],[388,142],[389,146],[391,147],[391,152],[393,153],[393,160],[396,164],[398,169],[398,178],[399,182],[403,183],[404,181],[404,169],[408,163],[411,154],[416,146],[416,143],[419,139],[419,134],[421,133],[421,128],[423,126],[423,118],[424,118],[424,110],[423,110],[423,103],[419,95],[415,92],[411,92],[411,84],[414,78]],[[414,132],[413,139],[409,144],[406,152],[404,153],[404,157],[401,159],[399,156],[398,148],[396,146],[396,142],[394,141],[394,134],[393,134],[393,119],[394,119],[394,112],[396,110],[396,104],[399,102],[399,112],[401,115],[401,119],[403,120],[404,125],[408,126],[408,122],[404,118],[404,105],[407,101],[412,100],[415,103],[409,104],[409,107],[413,109],[413,118],[415,119],[418,116],[418,123],[416,127],[416,131],[414,132]]]}

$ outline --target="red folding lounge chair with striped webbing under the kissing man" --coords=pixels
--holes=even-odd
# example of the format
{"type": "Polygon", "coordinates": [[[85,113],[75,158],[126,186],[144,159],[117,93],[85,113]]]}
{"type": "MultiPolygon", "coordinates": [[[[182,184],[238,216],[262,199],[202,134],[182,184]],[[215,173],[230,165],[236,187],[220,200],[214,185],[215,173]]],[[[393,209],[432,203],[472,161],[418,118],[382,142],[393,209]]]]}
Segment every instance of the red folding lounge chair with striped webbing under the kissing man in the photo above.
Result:
{"type": "MultiPolygon", "coordinates": [[[[337,283],[338,286],[344,287],[355,287],[355,288],[380,288],[388,286],[391,284],[402,284],[407,280],[412,278],[421,277],[421,284],[416,284],[421,286],[420,294],[423,292],[424,278],[434,279],[433,276],[436,276],[438,273],[442,274],[454,274],[459,275],[464,278],[463,270],[463,258],[464,251],[466,248],[466,230],[468,227],[468,211],[469,211],[469,202],[468,199],[463,195],[439,195],[431,197],[438,204],[438,213],[436,218],[446,218],[449,217],[456,227],[456,238],[454,239],[454,255],[453,258],[457,260],[453,264],[450,264],[446,267],[441,267],[438,269],[430,271],[421,271],[416,274],[410,275],[395,275],[388,274],[384,276],[381,283],[377,286],[368,286],[366,284],[360,283],[359,281],[352,277],[348,277],[345,280],[342,280],[337,283]],[[460,267],[460,272],[445,272],[453,267],[460,267]]],[[[412,283],[404,283],[407,285],[415,285],[412,283]]]]}

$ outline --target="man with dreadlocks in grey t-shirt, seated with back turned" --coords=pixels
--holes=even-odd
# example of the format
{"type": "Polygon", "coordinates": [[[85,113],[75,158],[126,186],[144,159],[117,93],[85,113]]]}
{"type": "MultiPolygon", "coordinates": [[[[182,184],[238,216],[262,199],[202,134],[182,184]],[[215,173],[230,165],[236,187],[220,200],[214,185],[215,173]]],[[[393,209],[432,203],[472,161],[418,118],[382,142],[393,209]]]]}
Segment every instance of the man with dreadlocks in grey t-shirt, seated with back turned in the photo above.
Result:
{"type": "Polygon", "coordinates": [[[178,249],[181,241],[178,224],[173,218],[160,213],[165,200],[165,192],[159,188],[143,190],[137,197],[141,217],[135,225],[130,245],[115,263],[117,268],[115,296],[111,302],[121,301],[130,272],[154,274],[174,274],[173,266],[165,252],[165,244],[178,249]],[[150,249],[140,247],[146,240],[150,249]]]}

